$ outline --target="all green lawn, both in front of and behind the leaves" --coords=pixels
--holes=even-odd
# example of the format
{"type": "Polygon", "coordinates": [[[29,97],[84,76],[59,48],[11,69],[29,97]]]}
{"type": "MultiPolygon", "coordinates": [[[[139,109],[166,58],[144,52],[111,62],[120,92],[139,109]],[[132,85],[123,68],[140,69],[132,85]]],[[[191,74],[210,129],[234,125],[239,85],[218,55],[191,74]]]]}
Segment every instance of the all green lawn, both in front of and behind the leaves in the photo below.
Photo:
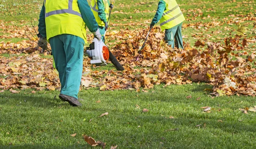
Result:
{"type": "MultiPolygon", "coordinates": [[[[128,28],[131,32],[149,26],[146,22],[154,17],[158,2],[113,1],[110,26],[120,26],[111,26],[111,30],[128,28]],[[123,25],[131,22],[144,25],[123,25]]],[[[248,0],[177,0],[177,3],[186,17],[184,25],[198,22],[207,25],[214,21],[223,24],[207,29],[196,25],[183,28],[184,41],[191,45],[198,39],[223,42],[224,37],[238,28],[238,25],[228,24],[225,19],[240,20],[243,17],[236,14],[256,13],[255,4],[248,0]]],[[[42,0],[1,0],[0,23],[17,28],[31,25],[30,18],[38,19],[41,5],[42,0]],[[22,24],[21,20],[24,20],[22,24]]],[[[247,37],[256,36],[252,21],[246,20],[241,24],[248,26],[247,37]]],[[[8,34],[0,28],[0,35],[8,34]]],[[[0,39],[4,42],[20,40],[24,39],[0,39]]],[[[115,42],[108,38],[107,41],[115,42]]],[[[255,43],[250,47],[253,45],[255,43]]],[[[15,54],[1,56],[12,57],[15,54]]],[[[51,58],[49,55],[41,57],[51,58]]],[[[110,64],[93,70],[113,68],[110,64]]],[[[83,106],[76,108],[59,100],[59,91],[42,90],[35,94],[31,93],[32,89],[19,90],[17,94],[4,91],[0,93],[0,148],[91,148],[83,140],[83,134],[107,143],[107,149],[111,145],[118,145],[119,149],[255,148],[256,115],[239,110],[256,105],[255,97],[234,95],[212,98],[209,92],[204,91],[207,88],[212,86],[204,83],[157,85],[148,92],[82,89],[79,97],[84,99],[81,101],[83,106]],[[191,98],[187,98],[190,95],[191,98]],[[200,109],[203,106],[210,106],[210,113],[203,112],[200,109]],[[143,112],[144,108],[149,112],[143,112]],[[98,117],[105,112],[109,115],[98,117]],[[169,118],[171,116],[174,118],[169,118]],[[70,136],[74,133],[77,133],[75,137],[70,136]]]]}

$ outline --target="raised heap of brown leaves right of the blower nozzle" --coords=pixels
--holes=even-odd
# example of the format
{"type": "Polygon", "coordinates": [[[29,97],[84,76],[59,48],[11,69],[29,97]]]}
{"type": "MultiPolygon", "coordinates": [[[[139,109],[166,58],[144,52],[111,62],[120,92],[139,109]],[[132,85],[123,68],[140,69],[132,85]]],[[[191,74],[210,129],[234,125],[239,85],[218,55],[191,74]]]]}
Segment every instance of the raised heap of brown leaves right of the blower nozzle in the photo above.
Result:
{"type": "Polygon", "coordinates": [[[253,68],[256,53],[247,46],[255,39],[228,37],[224,44],[198,40],[194,47],[185,44],[183,50],[172,49],[161,40],[160,28],[155,28],[149,34],[140,61],[136,62],[134,57],[138,55],[138,49],[143,44],[141,37],[146,32],[135,31],[135,36],[127,37],[125,42],[113,48],[119,60],[128,65],[128,71],[135,70],[134,66],[147,67],[140,69],[140,75],[135,78],[134,87],[137,90],[140,86],[148,89],[160,83],[207,82],[214,86],[212,94],[216,96],[256,95],[256,69],[253,68]],[[245,49],[247,52],[244,52],[245,49]]]}

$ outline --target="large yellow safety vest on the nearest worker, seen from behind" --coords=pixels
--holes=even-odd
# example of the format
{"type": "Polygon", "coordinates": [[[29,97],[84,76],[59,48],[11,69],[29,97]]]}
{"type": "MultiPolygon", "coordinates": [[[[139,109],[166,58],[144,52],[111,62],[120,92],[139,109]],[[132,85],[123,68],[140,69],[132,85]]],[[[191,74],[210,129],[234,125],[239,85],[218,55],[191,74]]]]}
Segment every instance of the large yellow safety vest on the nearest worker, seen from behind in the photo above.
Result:
{"type": "Polygon", "coordinates": [[[72,34],[86,41],[86,25],[77,0],[44,0],[47,40],[59,34],[72,34]]]}

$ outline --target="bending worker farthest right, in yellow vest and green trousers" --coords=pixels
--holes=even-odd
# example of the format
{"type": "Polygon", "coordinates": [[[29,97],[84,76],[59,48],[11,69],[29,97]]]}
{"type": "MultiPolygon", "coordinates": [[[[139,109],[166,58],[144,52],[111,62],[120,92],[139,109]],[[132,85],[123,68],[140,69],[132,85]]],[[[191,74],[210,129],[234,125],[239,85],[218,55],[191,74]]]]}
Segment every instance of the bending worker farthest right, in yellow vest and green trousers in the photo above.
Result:
{"type": "Polygon", "coordinates": [[[182,22],[185,20],[176,0],[159,0],[157,12],[150,24],[153,27],[160,20],[160,27],[165,30],[164,40],[174,49],[183,49],[181,34],[182,22]]]}

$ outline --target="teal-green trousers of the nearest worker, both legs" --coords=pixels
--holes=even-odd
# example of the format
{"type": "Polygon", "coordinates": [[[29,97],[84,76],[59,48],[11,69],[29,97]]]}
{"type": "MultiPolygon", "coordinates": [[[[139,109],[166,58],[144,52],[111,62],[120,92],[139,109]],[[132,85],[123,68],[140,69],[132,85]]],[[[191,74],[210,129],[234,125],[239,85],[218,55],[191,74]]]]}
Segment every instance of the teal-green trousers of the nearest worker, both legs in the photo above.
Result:
{"type": "Polygon", "coordinates": [[[51,37],[49,42],[61,81],[61,94],[77,99],[83,71],[84,40],[61,34],[51,37]]]}

